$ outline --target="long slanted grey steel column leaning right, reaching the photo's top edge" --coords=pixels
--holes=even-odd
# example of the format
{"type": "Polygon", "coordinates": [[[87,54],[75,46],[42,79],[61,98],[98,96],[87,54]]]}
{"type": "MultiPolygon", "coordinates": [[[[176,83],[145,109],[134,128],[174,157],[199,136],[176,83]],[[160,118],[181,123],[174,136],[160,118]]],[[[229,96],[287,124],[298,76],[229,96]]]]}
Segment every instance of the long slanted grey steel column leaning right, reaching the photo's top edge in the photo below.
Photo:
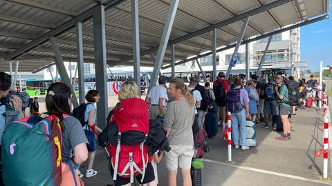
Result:
{"type": "Polygon", "coordinates": [[[163,58],[164,58],[165,51],[167,48],[169,34],[171,34],[176,10],[178,8],[178,1],[180,1],[180,0],[173,0],[171,5],[169,6],[169,12],[168,12],[168,16],[167,16],[167,19],[165,22],[163,36],[161,37],[156,61],[154,62],[154,71],[152,72],[152,77],[151,77],[151,81],[149,84],[149,90],[147,90],[148,94],[149,94],[149,91],[151,90],[151,87],[154,87],[157,83],[158,74],[160,72],[160,68],[163,63],[163,58]]]}

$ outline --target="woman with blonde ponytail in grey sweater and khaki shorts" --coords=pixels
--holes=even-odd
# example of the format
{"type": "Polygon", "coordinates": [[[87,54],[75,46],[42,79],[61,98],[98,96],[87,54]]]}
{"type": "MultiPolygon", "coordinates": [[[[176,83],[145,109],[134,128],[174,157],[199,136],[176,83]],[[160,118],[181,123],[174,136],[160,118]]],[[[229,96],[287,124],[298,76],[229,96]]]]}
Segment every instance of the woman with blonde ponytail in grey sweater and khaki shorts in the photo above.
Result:
{"type": "Polygon", "coordinates": [[[194,156],[194,137],[192,123],[194,122],[194,97],[183,82],[183,79],[173,79],[169,82],[169,95],[175,101],[167,105],[164,127],[171,150],[165,152],[168,169],[168,185],[176,185],[176,174],[181,167],[184,186],[192,185],[190,167],[194,156]]]}

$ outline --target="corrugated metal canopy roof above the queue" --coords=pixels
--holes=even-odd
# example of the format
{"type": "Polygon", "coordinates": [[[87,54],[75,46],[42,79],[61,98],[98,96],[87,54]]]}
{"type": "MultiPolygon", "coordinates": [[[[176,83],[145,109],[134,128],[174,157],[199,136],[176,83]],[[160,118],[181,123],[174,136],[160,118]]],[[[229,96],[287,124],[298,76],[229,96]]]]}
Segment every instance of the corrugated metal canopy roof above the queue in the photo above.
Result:
{"type": "MultiPolygon", "coordinates": [[[[54,61],[48,42],[55,36],[64,61],[77,61],[75,23],[83,22],[84,62],[93,63],[91,11],[105,5],[107,63],[132,65],[131,1],[100,0],[0,0],[0,70],[8,61],[19,61],[20,72],[33,72],[54,61]]],[[[172,0],[140,0],[140,64],[153,66],[167,12],[172,0]],[[150,55],[151,54],[151,55],[150,55]]],[[[244,39],[264,35],[285,26],[326,15],[329,0],[181,0],[169,45],[175,44],[175,59],[212,50],[212,29],[217,48],[234,44],[243,19],[250,15],[244,39]]],[[[327,16],[324,17],[324,19],[327,16]]],[[[163,65],[171,63],[167,48],[163,65]]]]}

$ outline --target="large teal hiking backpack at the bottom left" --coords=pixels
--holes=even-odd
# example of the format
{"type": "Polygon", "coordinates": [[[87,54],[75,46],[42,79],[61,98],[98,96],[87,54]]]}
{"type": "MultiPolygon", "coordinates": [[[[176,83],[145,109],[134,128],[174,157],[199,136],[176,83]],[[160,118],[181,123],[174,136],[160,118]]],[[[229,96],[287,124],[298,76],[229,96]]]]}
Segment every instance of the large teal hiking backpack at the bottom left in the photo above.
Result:
{"type": "Polygon", "coordinates": [[[2,138],[5,185],[60,185],[62,131],[56,116],[30,116],[8,125],[2,138]]]}

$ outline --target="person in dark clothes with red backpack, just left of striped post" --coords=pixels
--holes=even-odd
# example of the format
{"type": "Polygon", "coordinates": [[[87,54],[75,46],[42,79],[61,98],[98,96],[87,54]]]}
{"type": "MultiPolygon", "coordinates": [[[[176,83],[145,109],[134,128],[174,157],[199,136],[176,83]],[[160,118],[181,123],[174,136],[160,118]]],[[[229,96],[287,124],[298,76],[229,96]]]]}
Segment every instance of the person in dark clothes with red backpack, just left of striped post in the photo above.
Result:
{"type": "Polygon", "coordinates": [[[226,96],[228,92],[228,81],[225,81],[225,73],[219,72],[218,79],[213,82],[213,92],[216,96],[216,104],[218,105],[218,120],[221,119],[219,125],[223,126],[227,122],[226,118],[226,96]]]}

